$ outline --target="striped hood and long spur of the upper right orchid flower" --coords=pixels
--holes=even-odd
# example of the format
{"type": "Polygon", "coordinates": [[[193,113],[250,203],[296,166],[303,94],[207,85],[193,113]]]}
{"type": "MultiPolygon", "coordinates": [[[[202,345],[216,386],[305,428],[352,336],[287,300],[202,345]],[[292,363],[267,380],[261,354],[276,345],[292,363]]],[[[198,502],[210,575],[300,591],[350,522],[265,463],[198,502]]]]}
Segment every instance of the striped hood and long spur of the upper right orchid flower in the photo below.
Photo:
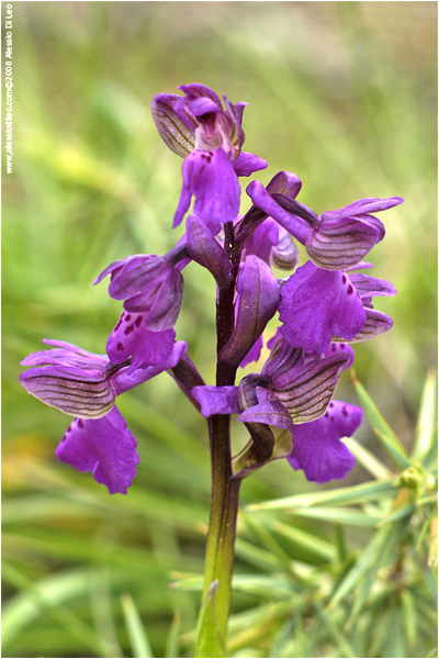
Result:
{"type": "Polygon", "coordinates": [[[318,267],[327,270],[345,270],[359,264],[385,234],[383,223],[371,213],[404,201],[401,197],[360,199],[338,211],[317,215],[295,199],[263,188],[259,181],[247,187],[247,194],[256,206],[305,245],[318,267]]]}

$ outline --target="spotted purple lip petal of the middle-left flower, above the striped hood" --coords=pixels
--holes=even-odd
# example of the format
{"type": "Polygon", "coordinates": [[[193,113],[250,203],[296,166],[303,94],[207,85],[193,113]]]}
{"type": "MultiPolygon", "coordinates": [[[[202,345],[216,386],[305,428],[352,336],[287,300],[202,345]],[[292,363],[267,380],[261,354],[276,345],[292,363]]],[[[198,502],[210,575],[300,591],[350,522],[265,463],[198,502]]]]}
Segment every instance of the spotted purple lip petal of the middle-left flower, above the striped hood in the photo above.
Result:
{"type": "Polygon", "coordinates": [[[136,368],[157,366],[168,359],[176,338],[173,330],[148,330],[144,315],[124,311],[106,342],[106,354],[113,364],[123,364],[133,357],[130,373],[136,368]]]}

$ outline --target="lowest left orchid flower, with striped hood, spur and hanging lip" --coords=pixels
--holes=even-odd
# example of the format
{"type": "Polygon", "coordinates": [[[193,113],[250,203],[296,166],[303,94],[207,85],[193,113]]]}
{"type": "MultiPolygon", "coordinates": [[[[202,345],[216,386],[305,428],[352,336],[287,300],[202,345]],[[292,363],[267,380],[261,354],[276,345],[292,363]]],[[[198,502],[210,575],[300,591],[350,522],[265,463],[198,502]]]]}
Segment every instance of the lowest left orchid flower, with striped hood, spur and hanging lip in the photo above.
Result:
{"type": "Polygon", "coordinates": [[[23,387],[42,402],[76,416],[57,457],[79,471],[92,471],[110,494],[126,494],[136,473],[136,440],[115,406],[117,395],[142,384],[164,370],[173,368],[187,350],[176,342],[160,361],[132,370],[130,360],[112,364],[106,356],[82,350],[72,344],[45,340],[55,346],[29,355],[20,376],[23,387]]]}

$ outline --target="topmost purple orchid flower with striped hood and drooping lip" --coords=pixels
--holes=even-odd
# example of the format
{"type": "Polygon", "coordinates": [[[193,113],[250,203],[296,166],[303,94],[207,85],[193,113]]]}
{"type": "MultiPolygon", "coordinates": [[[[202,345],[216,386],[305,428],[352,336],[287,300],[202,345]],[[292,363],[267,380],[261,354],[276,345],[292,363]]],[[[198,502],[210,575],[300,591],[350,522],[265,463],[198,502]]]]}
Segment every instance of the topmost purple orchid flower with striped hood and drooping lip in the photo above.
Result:
{"type": "Polygon", "coordinates": [[[233,222],[239,212],[238,176],[250,176],[267,167],[266,160],[241,150],[243,112],[247,103],[225,109],[204,85],[182,85],[183,97],[158,94],[151,103],[153,119],[165,143],[179,156],[183,188],[173,219],[178,226],[195,197],[193,212],[213,233],[233,222]]]}

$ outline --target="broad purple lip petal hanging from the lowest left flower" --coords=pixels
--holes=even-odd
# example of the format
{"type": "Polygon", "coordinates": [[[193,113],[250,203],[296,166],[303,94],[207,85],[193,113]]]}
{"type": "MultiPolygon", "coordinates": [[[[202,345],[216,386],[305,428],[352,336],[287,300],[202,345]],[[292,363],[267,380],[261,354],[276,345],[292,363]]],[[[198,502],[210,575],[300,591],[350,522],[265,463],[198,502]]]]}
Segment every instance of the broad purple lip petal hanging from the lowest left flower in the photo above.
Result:
{"type": "Polygon", "coordinates": [[[126,494],[136,474],[139,457],[136,439],[117,407],[98,420],[75,418],[56,456],[79,471],[92,471],[110,494],[126,494]]]}

